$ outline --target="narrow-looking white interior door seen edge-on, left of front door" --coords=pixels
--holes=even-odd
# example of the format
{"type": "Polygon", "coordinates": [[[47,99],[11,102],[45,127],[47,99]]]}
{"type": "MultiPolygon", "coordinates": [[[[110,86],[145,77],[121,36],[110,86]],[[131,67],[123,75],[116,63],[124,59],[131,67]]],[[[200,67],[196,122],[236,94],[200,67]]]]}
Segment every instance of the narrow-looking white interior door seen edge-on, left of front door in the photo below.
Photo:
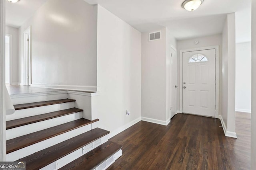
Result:
{"type": "Polygon", "coordinates": [[[177,111],[177,53],[172,48],[170,58],[170,106],[172,118],[177,111]]]}

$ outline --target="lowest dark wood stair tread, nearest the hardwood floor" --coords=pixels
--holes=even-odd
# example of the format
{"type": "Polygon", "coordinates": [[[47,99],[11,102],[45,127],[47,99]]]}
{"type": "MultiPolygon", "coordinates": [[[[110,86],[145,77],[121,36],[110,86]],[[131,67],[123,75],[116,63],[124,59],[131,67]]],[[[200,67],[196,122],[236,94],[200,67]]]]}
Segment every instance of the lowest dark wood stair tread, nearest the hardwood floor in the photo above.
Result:
{"type": "Polygon", "coordinates": [[[60,170],[92,170],[110,158],[110,156],[115,154],[121,148],[121,145],[108,141],[69,164],[66,164],[60,168],[60,170]]]}

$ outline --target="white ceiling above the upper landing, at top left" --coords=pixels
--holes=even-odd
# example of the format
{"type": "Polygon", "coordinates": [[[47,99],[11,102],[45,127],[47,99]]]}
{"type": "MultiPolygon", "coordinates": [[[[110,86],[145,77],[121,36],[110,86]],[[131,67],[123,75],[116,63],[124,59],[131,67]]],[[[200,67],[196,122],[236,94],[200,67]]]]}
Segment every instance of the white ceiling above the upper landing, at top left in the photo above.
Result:
{"type": "Polygon", "coordinates": [[[11,3],[6,0],[6,25],[20,27],[47,0],[20,0],[11,3]]]}

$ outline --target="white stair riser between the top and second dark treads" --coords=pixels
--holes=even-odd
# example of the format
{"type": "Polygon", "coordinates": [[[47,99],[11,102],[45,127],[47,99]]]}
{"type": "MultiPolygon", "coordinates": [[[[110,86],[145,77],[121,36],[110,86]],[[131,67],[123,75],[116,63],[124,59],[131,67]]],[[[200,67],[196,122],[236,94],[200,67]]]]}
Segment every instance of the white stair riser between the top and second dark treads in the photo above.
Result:
{"type": "Polygon", "coordinates": [[[16,110],[12,115],[6,115],[6,121],[20,119],[24,117],[30,117],[35,115],[41,115],[44,113],[49,113],[53,111],[59,111],[64,109],[70,109],[75,107],[74,102],[67,102],[62,104],[53,104],[48,106],[40,106],[40,107],[33,107],[28,109],[20,109],[16,110]]]}

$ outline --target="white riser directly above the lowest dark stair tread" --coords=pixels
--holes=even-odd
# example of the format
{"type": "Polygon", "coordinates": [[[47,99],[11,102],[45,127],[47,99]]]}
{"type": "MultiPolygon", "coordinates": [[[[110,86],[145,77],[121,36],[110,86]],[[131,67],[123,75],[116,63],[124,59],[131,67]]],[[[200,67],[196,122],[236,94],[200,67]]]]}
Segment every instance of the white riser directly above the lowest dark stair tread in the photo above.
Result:
{"type": "MultiPolygon", "coordinates": [[[[89,152],[90,150],[102,145],[103,143],[108,141],[108,135],[94,141],[93,143],[90,143],[88,145],[93,145],[92,148],[90,148],[89,150],[86,150],[86,152],[83,151],[83,148],[80,148],[58,160],[56,160],[55,162],[49,164],[48,166],[45,166],[44,168],[40,169],[40,170],[57,170],[63,166],[65,166],[66,164],[72,162],[73,160],[76,160],[77,158],[79,158],[80,156],[86,154],[87,152],[89,152]],[[100,142],[98,142],[100,141],[100,142]]],[[[85,146],[86,147],[86,146],[85,146]]],[[[88,148],[88,147],[87,147],[88,148]]]]}

